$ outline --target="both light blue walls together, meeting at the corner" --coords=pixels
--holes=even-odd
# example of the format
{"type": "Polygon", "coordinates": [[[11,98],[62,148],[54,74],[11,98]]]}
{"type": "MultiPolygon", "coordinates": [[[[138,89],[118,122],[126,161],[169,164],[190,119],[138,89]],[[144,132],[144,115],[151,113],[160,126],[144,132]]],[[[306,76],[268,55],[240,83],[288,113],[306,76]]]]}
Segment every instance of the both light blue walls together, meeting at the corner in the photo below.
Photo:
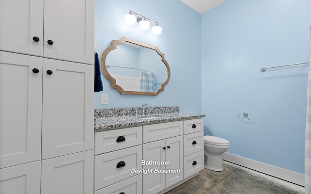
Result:
{"type": "Polygon", "coordinates": [[[96,0],[99,56],[112,39],[145,42],[165,54],[171,80],[159,96],[129,96],[102,75],[95,108],[202,108],[205,135],[228,139],[229,153],[304,174],[307,66],[259,69],[308,62],[310,7],[310,0],[227,0],[201,17],[180,0],[96,0]],[[158,21],[162,33],[126,25],[129,10],[158,21]],[[249,121],[238,119],[243,112],[249,121]]]}

